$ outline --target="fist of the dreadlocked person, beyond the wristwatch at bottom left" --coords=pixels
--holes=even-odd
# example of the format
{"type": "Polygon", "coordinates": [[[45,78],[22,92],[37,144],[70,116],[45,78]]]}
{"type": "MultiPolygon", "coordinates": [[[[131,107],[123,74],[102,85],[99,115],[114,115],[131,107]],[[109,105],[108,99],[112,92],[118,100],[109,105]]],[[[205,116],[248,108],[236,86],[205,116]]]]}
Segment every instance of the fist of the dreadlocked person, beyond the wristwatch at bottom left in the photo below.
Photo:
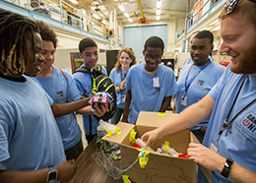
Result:
{"type": "Polygon", "coordinates": [[[75,164],[75,159],[70,159],[57,165],[55,168],[58,170],[57,179],[61,182],[68,182],[73,177],[77,166],[75,164]]]}

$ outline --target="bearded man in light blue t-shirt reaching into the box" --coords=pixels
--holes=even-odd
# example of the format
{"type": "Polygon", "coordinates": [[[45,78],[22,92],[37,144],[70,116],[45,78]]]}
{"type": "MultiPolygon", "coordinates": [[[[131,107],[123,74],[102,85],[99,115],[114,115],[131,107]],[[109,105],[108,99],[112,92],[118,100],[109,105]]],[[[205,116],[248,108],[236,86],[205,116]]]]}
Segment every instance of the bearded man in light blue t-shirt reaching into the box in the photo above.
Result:
{"type": "MultiPolygon", "coordinates": [[[[220,52],[231,64],[216,86],[178,117],[143,135],[147,145],[190,128],[210,117],[201,144],[190,144],[188,155],[212,171],[213,182],[256,180],[256,0],[228,0],[220,15],[220,52]]],[[[207,182],[201,169],[200,182],[207,182]]]]}

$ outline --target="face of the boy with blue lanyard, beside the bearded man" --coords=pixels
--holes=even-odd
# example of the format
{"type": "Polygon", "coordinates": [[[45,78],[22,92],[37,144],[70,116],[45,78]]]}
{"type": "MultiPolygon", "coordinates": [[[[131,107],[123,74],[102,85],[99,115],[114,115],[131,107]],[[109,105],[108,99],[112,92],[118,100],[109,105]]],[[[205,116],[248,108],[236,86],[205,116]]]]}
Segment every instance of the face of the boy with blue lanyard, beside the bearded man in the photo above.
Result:
{"type": "Polygon", "coordinates": [[[209,38],[194,38],[191,43],[190,56],[196,66],[203,66],[209,60],[214,45],[209,38]]]}

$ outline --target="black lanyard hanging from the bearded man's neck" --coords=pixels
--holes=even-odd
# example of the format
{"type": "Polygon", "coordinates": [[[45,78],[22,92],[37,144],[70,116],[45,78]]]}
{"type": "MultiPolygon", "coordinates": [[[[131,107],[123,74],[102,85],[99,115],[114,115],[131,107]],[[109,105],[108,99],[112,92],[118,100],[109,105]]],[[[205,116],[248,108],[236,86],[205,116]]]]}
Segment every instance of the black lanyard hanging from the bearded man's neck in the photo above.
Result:
{"type": "MultiPolygon", "coordinates": [[[[235,101],[236,101],[236,99],[237,99],[237,97],[238,97],[238,95],[239,95],[239,93],[240,93],[240,91],[241,91],[241,89],[242,89],[244,83],[245,83],[246,78],[247,78],[247,75],[244,77],[243,82],[242,82],[242,84],[241,84],[241,87],[240,87],[239,91],[237,92],[237,94],[236,94],[236,96],[235,96],[235,98],[234,98],[234,101],[233,101],[233,103],[232,103],[232,106],[231,106],[231,108],[230,108],[230,110],[229,110],[229,112],[228,112],[226,118],[224,119],[224,126],[223,126],[222,130],[219,132],[219,137],[218,137],[218,139],[219,139],[219,138],[221,137],[221,135],[223,134],[224,129],[226,129],[226,133],[225,133],[225,136],[226,136],[227,133],[230,132],[229,129],[231,128],[232,122],[233,122],[244,110],[246,110],[248,107],[250,107],[250,106],[251,106],[253,103],[255,103],[255,101],[256,101],[256,98],[255,98],[254,100],[252,100],[249,104],[247,104],[245,107],[243,107],[243,108],[230,120],[230,122],[228,122],[228,117],[229,117],[229,115],[230,115],[230,113],[231,113],[231,111],[232,111],[232,108],[233,108],[233,106],[234,106],[234,103],[235,103],[235,101]]],[[[230,133],[231,133],[231,132],[230,132],[230,133]]]]}

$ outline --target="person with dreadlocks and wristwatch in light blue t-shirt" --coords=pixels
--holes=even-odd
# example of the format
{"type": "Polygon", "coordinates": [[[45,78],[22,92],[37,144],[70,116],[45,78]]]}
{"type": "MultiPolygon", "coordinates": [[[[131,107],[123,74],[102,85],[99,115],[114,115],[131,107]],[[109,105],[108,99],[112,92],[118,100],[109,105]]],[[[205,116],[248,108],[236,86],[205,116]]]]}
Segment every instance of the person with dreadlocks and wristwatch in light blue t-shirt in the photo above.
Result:
{"type": "Polygon", "coordinates": [[[0,182],[69,181],[76,165],[65,153],[52,99],[35,76],[41,37],[29,19],[0,9],[0,182]]]}

